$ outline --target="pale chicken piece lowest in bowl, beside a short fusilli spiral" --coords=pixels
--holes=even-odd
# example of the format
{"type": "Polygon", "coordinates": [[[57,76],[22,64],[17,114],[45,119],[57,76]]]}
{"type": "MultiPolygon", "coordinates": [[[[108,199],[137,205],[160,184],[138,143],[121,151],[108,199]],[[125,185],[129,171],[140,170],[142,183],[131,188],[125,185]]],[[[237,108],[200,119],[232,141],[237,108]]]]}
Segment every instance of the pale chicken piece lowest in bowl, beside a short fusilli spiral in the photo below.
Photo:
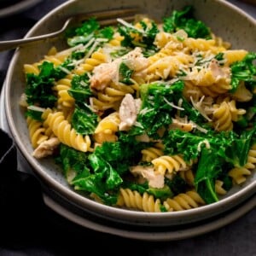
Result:
{"type": "Polygon", "coordinates": [[[152,188],[161,189],[165,185],[165,177],[160,173],[155,173],[153,166],[133,166],[131,173],[143,176],[152,188]]]}

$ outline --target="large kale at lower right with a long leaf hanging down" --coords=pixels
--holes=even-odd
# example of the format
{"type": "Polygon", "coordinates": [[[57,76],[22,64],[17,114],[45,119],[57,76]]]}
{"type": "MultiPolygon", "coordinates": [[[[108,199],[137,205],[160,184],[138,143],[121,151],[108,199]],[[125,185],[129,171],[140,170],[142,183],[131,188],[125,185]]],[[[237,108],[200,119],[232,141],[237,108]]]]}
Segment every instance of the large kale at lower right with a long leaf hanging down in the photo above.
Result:
{"type": "Polygon", "coordinates": [[[214,186],[216,179],[224,175],[224,166],[240,167],[247,163],[255,131],[256,127],[238,135],[235,131],[190,133],[172,130],[163,143],[166,154],[183,154],[184,160],[198,160],[195,188],[207,203],[212,203],[218,201],[214,186]]]}

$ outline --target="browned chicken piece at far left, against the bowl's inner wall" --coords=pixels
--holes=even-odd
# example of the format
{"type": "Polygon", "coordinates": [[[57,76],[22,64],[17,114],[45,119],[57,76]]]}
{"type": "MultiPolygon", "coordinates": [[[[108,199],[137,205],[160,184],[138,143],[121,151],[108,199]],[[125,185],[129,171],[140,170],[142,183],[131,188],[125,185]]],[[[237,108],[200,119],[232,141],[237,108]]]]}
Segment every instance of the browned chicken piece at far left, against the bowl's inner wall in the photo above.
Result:
{"type": "Polygon", "coordinates": [[[32,153],[32,156],[41,159],[48,155],[51,155],[53,154],[55,148],[57,148],[59,144],[60,141],[57,137],[49,138],[49,140],[39,144],[38,148],[36,148],[32,153]]]}

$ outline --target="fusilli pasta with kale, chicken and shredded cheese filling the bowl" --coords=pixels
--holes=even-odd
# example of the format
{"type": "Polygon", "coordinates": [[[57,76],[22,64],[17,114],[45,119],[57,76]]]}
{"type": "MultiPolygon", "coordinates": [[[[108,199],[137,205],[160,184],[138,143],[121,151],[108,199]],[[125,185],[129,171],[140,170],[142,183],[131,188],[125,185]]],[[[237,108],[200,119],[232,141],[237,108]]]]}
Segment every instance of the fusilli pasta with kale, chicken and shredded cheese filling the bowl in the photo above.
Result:
{"type": "MultiPolygon", "coordinates": [[[[195,7],[196,8],[196,7],[195,7]]],[[[256,53],[184,6],[157,23],[91,17],[24,63],[21,96],[38,160],[92,200],[144,212],[212,204],[254,172],[256,53]]]]}

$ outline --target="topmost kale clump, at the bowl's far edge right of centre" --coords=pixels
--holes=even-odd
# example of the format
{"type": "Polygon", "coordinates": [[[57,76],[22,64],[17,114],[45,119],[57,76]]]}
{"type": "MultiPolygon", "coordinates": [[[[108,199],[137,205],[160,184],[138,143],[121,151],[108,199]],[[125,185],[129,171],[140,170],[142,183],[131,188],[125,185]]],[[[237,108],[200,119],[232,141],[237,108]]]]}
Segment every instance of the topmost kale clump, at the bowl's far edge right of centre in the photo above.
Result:
{"type": "Polygon", "coordinates": [[[194,17],[194,8],[185,6],[182,10],[174,10],[172,15],[163,19],[165,32],[177,32],[183,29],[189,38],[211,38],[211,30],[201,20],[194,17]]]}

